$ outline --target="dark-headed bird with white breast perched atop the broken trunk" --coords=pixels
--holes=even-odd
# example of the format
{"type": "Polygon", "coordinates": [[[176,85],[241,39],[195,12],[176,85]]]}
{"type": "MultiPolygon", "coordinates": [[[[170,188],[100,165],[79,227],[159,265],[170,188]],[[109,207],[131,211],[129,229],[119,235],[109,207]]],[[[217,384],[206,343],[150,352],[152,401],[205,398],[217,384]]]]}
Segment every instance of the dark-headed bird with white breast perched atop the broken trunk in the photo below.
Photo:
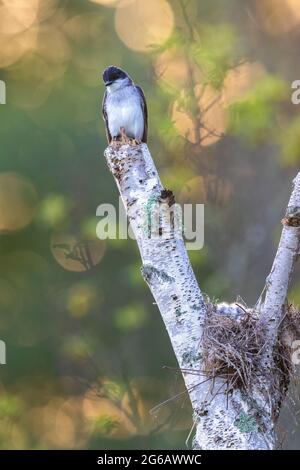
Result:
{"type": "Polygon", "coordinates": [[[106,86],[102,113],[109,144],[147,142],[148,112],[145,95],[124,70],[110,66],[103,72],[106,86]]]}

